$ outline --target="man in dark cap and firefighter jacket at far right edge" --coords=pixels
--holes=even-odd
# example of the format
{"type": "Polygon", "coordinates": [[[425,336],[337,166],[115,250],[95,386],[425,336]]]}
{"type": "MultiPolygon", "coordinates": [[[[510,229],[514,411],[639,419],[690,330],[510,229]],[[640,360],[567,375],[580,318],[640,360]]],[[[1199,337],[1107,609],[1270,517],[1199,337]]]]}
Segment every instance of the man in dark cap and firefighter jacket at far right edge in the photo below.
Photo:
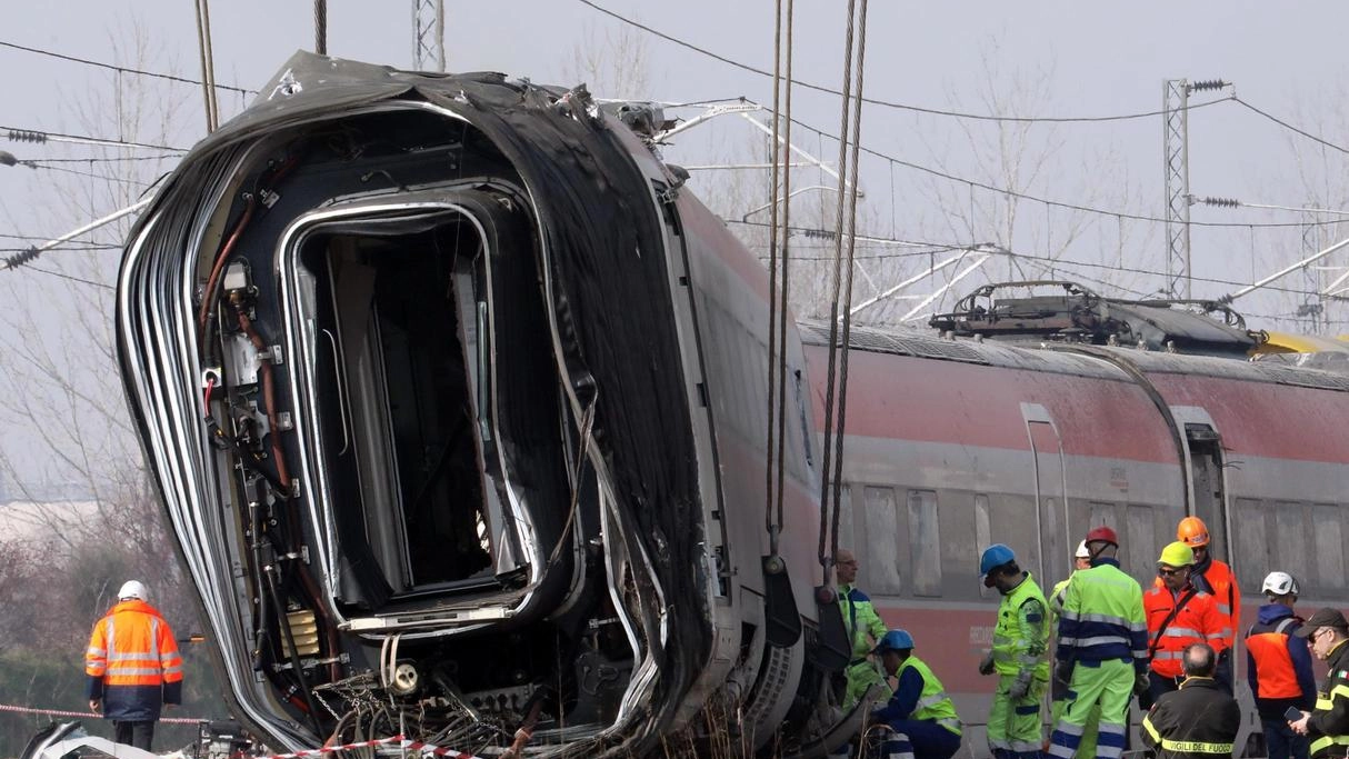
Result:
{"type": "MultiPolygon", "coordinates": [[[[1323,608],[1311,615],[1296,632],[1311,643],[1311,652],[1330,667],[1326,685],[1317,694],[1317,709],[1302,712],[1288,727],[1311,739],[1313,759],[1345,756],[1349,752],[1349,621],[1338,609],[1323,608]]],[[[1292,716],[1295,709],[1288,710],[1292,716]]]]}

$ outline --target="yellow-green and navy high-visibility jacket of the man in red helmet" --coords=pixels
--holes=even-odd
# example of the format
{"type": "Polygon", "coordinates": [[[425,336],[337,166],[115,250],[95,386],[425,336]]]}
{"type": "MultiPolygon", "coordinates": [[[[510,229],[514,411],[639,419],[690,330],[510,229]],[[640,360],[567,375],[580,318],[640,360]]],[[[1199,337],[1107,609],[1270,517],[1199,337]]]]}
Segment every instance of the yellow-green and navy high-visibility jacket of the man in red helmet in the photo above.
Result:
{"type": "Polygon", "coordinates": [[[1068,578],[1059,613],[1063,662],[1132,661],[1143,671],[1148,659],[1148,626],[1143,617],[1143,588],[1113,558],[1098,558],[1068,578]]]}

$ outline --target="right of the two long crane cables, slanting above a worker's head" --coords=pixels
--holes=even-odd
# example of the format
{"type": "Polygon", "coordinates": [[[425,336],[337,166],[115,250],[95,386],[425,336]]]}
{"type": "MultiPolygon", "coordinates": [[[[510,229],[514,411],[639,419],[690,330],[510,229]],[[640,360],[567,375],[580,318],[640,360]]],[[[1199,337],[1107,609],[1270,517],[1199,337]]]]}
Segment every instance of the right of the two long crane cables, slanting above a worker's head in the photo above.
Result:
{"type": "Polygon", "coordinates": [[[857,0],[847,4],[847,31],[844,32],[843,53],[843,108],[839,115],[839,189],[836,218],[834,221],[834,275],[832,293],[830,298],[830,361],[826,375],[824,390],[824,466],[820,469],[820,545],[819,561],[824,569],[824,584],[832,581],[834,555],[838,553],[838,527],[840,516],[842,475],[843,475],[843,414],[847,410],[847,345],[853,328],[853,263],[855,257],[857,232],[857,170],[858,147],[861,144],[862,129],[862,84],[866,59],[866,8],[867,0],[862,0],[861,8],[857,0]],[[853,62],[854,22],[857,24],[857,65],[853,62]],[[854,96],[853,78],[857,77],[857,94],[854,96]],[[853,112],[849,113],[851,105],[853,112]],[[849,143],[851,142],[851,155],[849,143]],[[849,181],[851,178],[851,182],[849,181]],[[844,201],[847,201],[847,216],[844,217],[844,201]],[[843,294],[843,307],[839,309],[839,290],[843,287],[843,237],[844,218],[847,233],[847,276],[846,293],[843,294]],[[839,326],[842,322],[842,336],[839,326]],[[839,359],[839,346],[843,348],[839,359]],[[835,387],[835,379],[838,380],[835,387]],[[836,411],[835,411],[835,392],[836,411]],[[836,427],[836,430],[835,430],[836,427]],[[828,553],[826,553],[826,550],[828,553]]]}

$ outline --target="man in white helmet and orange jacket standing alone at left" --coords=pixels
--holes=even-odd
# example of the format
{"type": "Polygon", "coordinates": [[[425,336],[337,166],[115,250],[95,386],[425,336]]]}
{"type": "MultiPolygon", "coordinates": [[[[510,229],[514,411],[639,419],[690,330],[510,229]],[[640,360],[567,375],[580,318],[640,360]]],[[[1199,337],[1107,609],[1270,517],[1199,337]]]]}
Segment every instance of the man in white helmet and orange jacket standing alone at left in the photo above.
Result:
{"type": "Polygon", "coordinates": [[[85,674],[89,709],[112,720],[117,743],[150,751],[163,705],[182,702],[182,657],[139,581],[123,584],[117,605],[93,626],[85,674]]]}

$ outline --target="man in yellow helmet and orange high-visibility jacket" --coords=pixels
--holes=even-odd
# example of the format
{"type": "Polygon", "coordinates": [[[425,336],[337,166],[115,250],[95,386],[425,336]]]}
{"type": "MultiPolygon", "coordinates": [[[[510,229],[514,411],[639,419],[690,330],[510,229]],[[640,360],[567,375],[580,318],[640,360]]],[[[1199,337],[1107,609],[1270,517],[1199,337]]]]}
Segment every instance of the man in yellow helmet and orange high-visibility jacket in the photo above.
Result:
{"type": "Polygon", "coordinates": [[[1161,549],[1155,585],[1143,595],[1143,612],[1148,620],[1148,689],[1139,694],[1139,706],[1148,709],[1163,693],[1171,693],[1184,681],[1184,650],[1194,643],[1207,643],[1218,655],[1217,679],[1230,688],[1232,673],[1222,651],[1232,631],[1228,616],[1218,611],[1209,593],[1190,582],[1194,551],[1176,541],[1161,549]]]}

